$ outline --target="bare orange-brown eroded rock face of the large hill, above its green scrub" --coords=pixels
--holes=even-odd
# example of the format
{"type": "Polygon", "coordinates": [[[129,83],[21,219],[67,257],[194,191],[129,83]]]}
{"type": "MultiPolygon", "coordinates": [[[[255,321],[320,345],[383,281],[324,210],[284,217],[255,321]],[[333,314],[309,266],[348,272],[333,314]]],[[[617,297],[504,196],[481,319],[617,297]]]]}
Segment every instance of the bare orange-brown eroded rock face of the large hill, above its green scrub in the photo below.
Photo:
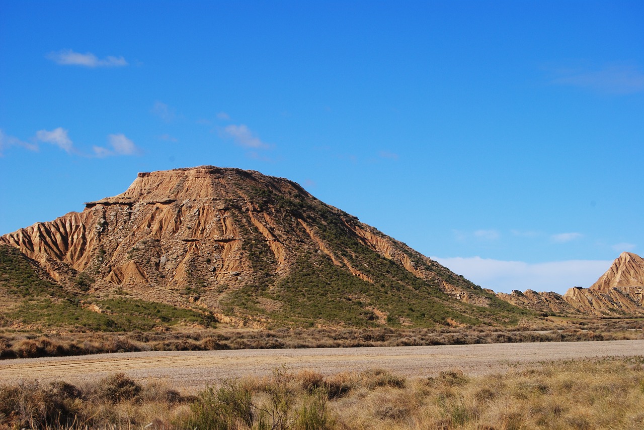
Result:
{"type": "MultiPolygon", "coordinates": [[[[322,253],[373,283],[339,242],[323,234],[330,223],[416,278],[450,274],[296,183],[214,166],[138,174],[124,193],[4,235],[0,243],[18,247],[63,283],[91,273],[92,294],[119,288],[176,305],[185,291],[198,289],[199,297],[191,300],[216,311],[222,292],[255,285],[260,274],[272,280],[286,276],[304,251],[322,253]]],[[[435,285],[461,301],[486,305],[474,292],[435,285]]]]}

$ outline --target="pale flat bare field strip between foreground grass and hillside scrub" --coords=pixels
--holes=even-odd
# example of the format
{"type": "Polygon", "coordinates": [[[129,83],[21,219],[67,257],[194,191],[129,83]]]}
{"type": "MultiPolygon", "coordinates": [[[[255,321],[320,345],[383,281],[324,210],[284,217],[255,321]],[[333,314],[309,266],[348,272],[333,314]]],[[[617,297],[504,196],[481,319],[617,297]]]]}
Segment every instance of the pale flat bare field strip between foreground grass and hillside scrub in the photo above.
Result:
{"type": "Polygon", "coordinates": [[[129,352],[4,360],[0,361],[0,377],[5,383],[38,379],[82,384],[123,372],[137,380],[166,379],[176,388],[193,391],[225,378],[266,375],[280,366],[291,370],[312,369],[327,375],[383,368],[406,377],[427,377],[448,369],[486,374],[539,361],[632,355],[644,355],[644,340],[129,352]]]}

